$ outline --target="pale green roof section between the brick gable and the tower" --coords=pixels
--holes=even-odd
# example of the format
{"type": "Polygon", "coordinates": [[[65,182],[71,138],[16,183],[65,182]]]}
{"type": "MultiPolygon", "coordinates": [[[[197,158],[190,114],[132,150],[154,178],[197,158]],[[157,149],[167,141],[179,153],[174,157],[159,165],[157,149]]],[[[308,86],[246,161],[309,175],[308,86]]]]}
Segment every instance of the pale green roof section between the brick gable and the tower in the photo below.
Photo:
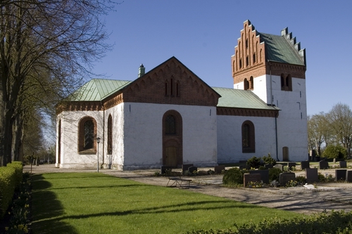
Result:
{"type": "Polygon", "coordinates": [[[218,107],[279,110],[279,108],[267,105],[263,100],[256,96],[256,94],[249,90],[212,88],[221,95],[218,107]]]}

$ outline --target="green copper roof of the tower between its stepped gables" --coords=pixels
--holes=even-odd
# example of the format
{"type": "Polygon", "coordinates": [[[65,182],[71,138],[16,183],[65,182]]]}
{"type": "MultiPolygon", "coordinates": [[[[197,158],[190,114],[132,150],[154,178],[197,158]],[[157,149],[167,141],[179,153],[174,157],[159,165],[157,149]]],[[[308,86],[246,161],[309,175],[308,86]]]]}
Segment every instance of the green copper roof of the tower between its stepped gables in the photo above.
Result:
{"type": "Polygon", "coordinates": [[[282,36],[261,33],[260,41],[265,42],[265,51],[267,59],[279,63],[290,63],[296,65],[305,65],[298,55],[298,51],[282,36]]]}

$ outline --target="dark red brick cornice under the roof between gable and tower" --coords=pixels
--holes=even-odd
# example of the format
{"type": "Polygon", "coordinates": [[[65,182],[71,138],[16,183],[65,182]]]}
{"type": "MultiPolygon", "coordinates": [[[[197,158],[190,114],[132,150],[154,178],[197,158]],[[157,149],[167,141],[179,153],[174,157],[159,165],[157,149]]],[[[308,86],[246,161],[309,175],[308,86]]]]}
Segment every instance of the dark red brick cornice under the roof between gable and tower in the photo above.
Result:
{"type": "Polygon", "coordinates": [[[245,109],[245,108],[216,108],[216,115],[279,117],[279,110],[245,109]]]}

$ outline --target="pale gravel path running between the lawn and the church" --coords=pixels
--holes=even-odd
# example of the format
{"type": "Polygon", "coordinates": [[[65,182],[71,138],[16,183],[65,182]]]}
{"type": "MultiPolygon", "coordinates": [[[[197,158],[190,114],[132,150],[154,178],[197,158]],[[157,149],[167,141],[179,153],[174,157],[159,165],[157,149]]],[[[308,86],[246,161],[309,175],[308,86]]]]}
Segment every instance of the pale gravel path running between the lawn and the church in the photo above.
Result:
{"type": "MultiPolygon", "coordinates": [[[[25,166],[24,171],[30,171],[25,166]]],[[[153,176],[157,169],[136,171],[115,171],[101,169],[99,172],[127,178],[155,186],[166,186],[168,177],[153,176]]],[[[93,169],[58,169],[54,164],[33,166],[32,173],[49,172],[96,172],[93,169]]],[[[334,174],[334,170],[324,173],[334,174]]],[[[302,174],[298,172],[297,175],[302,174]]],[[[313,214],[324,210],[352,211],[352,183],[319,183],[318,188],[309,190],[303,186],[294,188],[225,188],[221,186],[222,176],[191,176],[189,191],[217,197],[225,197],[239,202],[257,204],[263,207],[284,209],[301,214],[313,214]]],[[[172,188],[179,189],[179,188],[172,188]]]]}

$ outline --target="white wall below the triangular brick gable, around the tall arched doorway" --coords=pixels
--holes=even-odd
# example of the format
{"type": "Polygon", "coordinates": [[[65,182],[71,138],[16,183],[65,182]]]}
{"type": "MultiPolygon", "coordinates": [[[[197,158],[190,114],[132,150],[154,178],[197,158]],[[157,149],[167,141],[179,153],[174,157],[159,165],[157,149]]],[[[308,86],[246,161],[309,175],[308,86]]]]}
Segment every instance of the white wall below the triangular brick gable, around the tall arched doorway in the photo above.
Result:
{"type": "Polygon", "coordinates": [[[155,168],[163,165],[163,115],[176,110],[182,117],[183,162],[215,165],[216,109],[191,105],[124,103],[123,169],[155,168]],[[210,113],[211,112],[211,113],[210,113]]]}

